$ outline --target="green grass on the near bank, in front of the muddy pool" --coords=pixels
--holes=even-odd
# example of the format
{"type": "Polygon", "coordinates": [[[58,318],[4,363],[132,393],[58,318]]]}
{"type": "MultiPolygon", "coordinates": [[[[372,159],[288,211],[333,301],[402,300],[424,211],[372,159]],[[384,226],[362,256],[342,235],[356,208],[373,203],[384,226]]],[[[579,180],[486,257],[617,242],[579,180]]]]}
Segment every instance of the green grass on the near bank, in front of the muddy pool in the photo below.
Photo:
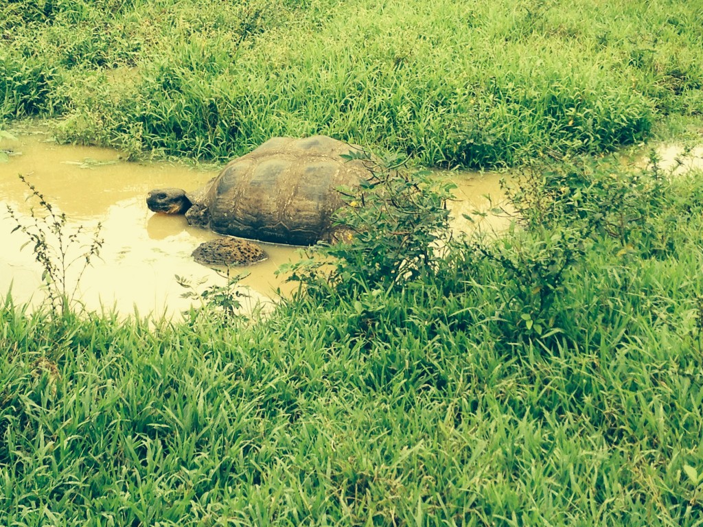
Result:
{"type": "Polygon", "coordinates": [[[8,299],[0,523],[701,525],[701,174],[593,170],[436,275],[356,277],[254,323],[52,319],[8,299]],[[601,231],[606,214],[550,302],[521,297],[520,280],[548,284],[560,229],[583,227],[559,207],[623,189],[647,221],[601,231]]]}

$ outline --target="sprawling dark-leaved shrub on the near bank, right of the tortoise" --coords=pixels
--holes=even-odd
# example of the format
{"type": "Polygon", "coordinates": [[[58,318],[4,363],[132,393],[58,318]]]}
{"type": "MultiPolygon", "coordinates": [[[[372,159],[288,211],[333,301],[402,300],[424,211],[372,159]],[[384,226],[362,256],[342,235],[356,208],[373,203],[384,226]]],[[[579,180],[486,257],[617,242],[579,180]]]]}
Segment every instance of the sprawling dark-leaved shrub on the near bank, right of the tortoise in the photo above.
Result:
{"type": "Polygon", "coordinates": [[[654,152],[645,169],[618,163],[570,157],[524,167],[504,183],[511,212],[503,212],[515,215],[511,230],[479,233],[463,248],[482,255],[501,277],[492,320],[508,343],[539,340],[544,349],[561,349],[559,325],[570,322],[560,297],[591,272],[583,266],[595,254],[629,261],[663,259],[675,250],[669,174],[654,152]]]}

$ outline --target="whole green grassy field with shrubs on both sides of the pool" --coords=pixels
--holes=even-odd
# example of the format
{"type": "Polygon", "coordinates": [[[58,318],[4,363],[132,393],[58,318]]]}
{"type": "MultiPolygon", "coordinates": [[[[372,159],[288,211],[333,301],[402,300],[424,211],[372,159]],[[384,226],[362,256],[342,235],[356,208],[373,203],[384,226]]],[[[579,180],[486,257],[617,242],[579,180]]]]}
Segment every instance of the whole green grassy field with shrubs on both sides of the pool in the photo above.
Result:
{"type": "Polygon", "coordinates": [[[699,118],[702,10],[0,4],[1,113],[67,141],[522,167],[513,228],[470,238],[448,188],[380,169],[267,318],[8,297],[0,525],[703,526],[703,174],[592,156],[699,118]]]}

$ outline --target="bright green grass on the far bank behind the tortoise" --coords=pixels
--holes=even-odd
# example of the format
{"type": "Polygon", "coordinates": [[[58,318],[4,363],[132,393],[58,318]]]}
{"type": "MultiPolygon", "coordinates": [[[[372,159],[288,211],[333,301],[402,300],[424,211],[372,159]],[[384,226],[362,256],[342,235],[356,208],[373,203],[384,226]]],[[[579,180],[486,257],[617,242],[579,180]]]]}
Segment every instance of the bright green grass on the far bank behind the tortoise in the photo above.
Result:
{"type": "Polygon", "coordinates": [[[322,133],[491,167],[612,150],[703,108],[697,1],[18,5],[1,115],[134,156],[226,160],[322,133]]]}

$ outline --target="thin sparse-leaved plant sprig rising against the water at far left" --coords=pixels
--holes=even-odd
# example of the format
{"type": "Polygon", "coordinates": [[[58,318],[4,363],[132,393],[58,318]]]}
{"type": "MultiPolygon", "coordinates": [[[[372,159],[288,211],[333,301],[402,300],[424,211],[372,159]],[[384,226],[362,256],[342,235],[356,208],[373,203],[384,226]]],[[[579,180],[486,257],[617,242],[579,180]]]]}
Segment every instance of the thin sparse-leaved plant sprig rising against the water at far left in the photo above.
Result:
{"type": "Polygon", "coordinates": [[[30,219],[25,220],[8,205],[8,214],[17,223],[12,232],[19,230],[29,238],[22,248],[34,244],[49,307],[55,315],[65,315],[75,301],[83,273],[93,258],[100,256],[102,225],[98,223],[92,232],[82,225],[70,226],[66,214],[57,212],[26,176],[20,174],[19,178],[30,189],[29,199],[37,200],[41,213],[32,207],[30,219]]]}

